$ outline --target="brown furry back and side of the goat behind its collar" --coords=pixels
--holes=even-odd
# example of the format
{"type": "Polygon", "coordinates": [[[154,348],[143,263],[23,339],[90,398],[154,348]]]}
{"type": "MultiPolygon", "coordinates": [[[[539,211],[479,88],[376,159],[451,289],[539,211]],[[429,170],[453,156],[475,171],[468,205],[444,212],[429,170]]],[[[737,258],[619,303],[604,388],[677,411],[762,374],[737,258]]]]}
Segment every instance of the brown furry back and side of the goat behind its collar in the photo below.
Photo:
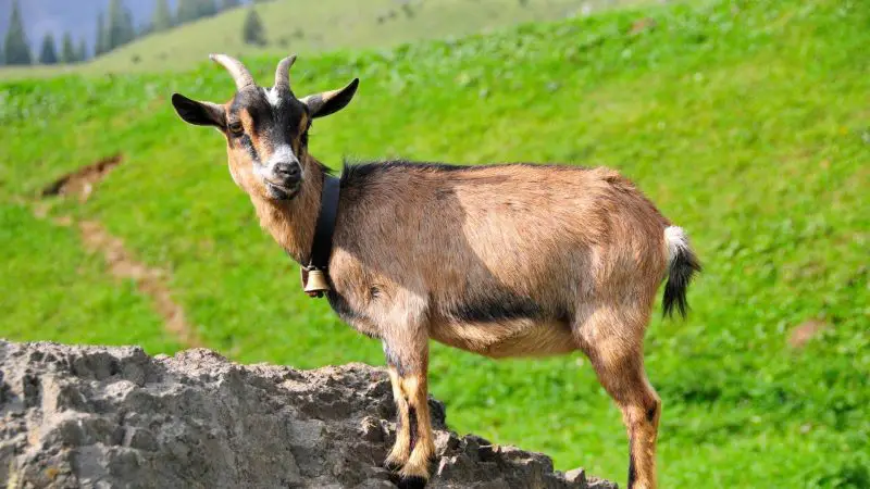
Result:
{"type": "Polygon", "coordinates": [[[651,304],[668,225],[602,167],[387,162],[345,170],[336,240],[360,280],[419,293],[436,316],[562,319],[577,301],[651,304]]]}

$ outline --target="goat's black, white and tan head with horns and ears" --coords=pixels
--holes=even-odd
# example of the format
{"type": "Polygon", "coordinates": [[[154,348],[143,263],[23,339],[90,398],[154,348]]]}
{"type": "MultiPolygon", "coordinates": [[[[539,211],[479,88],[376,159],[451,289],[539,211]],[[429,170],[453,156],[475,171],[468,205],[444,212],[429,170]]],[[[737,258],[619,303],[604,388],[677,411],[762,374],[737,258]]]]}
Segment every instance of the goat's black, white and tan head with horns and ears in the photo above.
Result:
{"type": "Polygon", "coordinates": [[[293,199],[302,188],[308,170],[311,121],[344,109],[359,80],[339,90],[297,99],[289,84],[296,57],[278,63],[272,88],[258,87],[237,60],[223,54],[211,58],[233,74],[238,90],[233,100],[221,105],[175,93],[175,111],[189,124],[213,126],[223,133],[229,174],[243,190],[262,199],[293,199]]]}

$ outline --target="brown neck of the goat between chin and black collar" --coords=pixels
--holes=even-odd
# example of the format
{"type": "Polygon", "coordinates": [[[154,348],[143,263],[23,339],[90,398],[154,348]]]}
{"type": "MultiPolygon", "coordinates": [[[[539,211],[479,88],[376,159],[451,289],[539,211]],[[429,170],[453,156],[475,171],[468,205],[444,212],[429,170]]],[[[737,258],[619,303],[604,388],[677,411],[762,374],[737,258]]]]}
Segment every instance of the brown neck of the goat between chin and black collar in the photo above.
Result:
{"type": "Polygon", "coordinates": [[[314,226],[320,214],[323,170],[313,156],[303,163],[304,179],[299,193],[289,201],[252,198],[260,225],[298,263],[308,264],[314,226]]]}

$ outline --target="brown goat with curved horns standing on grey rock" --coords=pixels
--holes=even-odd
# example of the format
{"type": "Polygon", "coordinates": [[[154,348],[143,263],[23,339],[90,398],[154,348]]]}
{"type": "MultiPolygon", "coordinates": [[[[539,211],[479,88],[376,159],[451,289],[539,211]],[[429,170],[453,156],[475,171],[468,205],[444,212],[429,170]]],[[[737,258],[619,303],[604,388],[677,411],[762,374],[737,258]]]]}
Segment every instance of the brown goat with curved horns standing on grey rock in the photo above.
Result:
{"type": "MultiPolygon", "coordinates": [[[[311,259],[330,170],[308,149],[312,120],[344,109],[359,79],[297,99],[289,68],[271,88],[212,55],[237,91],[223,104],[178,93],[178,115],[226,138],[229,173],[287,253],[311,259]]],[[[332,177],[330,177],[332,178],[332,177]]],[[[622,411],[629,488],[656,487],[661,401],[643,339],[661,281],[663,310],[686,313],[700,265],[685,233],[618,173],[568,165],[345,165],[328,260],[335,312],[382,341],[398,432],[385,464],[402,487],[428,479],[428,339],[489,358],[585,353],[622,411]]]]}

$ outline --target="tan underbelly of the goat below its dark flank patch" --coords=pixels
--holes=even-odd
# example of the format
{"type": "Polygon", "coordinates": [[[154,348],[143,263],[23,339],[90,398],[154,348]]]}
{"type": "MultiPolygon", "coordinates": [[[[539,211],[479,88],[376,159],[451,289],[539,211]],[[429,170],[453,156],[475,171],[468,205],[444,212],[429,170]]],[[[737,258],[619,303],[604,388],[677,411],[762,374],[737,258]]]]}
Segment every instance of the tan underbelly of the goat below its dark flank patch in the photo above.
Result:
{"type": "Polygon", "coordinates": [[[493,359],[560,355],[577,350],[571,327],[561,322],[442,323],[432,328],[432,338],[493,359]]]}

